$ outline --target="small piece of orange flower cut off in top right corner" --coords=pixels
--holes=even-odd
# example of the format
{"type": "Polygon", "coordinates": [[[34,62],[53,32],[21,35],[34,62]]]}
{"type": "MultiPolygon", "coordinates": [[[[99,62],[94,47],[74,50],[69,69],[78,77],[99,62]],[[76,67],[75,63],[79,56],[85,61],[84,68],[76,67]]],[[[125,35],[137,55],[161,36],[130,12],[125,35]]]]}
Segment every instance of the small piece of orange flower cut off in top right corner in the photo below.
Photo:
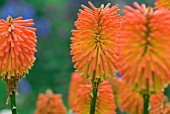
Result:
{"type": "Polygon", "coordinates": [[[158,8],[166,8],[170,10],[170,0],[156,0],[155,7],[158,8]]]}

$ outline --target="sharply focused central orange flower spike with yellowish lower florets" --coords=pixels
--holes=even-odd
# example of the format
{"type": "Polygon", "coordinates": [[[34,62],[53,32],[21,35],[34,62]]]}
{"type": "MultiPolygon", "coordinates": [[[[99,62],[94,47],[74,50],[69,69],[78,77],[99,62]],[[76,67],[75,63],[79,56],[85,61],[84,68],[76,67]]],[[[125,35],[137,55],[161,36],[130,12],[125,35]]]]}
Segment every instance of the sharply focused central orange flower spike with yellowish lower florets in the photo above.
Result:
{"type": "Polygon", "coordinates": [[[117,59],[115,39],[118,37],[120,15],[118,5],[109,8],[102,4],[91,9],[81,5],[76,30],[72,30],[71,55],[74,67],[92,82],[103,81],[114,76],[117,59]]]}

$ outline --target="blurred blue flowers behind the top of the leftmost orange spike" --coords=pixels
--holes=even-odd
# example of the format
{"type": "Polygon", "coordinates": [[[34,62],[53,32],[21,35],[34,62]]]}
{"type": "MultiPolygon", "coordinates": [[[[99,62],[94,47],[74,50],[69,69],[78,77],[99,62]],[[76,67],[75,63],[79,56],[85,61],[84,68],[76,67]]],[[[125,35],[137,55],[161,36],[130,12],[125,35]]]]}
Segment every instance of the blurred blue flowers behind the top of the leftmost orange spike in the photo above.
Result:
{"type": "Polygon", "coordinates": [[[8,1],[0,8],[1,18],[5,19],[8,15],[13,18],[22,16],[24,19],[34,19],[37,28],[37,35],[48,36],[50,34],[50,24],[49,21],[42,17],[36,16],[36,10],[30,4],[19,1],[8,1]]]}

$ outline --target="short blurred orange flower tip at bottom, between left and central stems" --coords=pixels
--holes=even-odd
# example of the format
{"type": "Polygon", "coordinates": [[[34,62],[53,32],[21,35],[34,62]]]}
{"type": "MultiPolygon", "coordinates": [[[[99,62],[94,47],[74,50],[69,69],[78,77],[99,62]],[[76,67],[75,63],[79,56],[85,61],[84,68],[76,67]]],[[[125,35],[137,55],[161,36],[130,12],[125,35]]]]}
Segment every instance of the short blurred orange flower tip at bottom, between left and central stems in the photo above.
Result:
{"type": "Polygon", "coordinates": [[[47,90],[46,94],[39,94],[35,114],[67,114],[60,94],[53,94],[47,90]]]}

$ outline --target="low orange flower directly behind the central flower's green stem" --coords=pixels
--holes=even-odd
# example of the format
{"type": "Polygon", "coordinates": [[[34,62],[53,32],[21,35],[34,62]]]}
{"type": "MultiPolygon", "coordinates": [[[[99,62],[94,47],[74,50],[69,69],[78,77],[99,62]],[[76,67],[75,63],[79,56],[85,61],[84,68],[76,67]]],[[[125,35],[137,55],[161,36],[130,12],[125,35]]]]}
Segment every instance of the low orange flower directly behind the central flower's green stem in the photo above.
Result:
{"type": "MultiPolygon", "coordinates": [[[[77,86],[79,86],[77,99],[72,110],[76,114],[88,114],[90,112],[92,85],[82,84],[77,86]]],[[[98,88],[95,114],[116,114],[115,110],[112,88],[107,81],[104,81],[98,88]]]]}

